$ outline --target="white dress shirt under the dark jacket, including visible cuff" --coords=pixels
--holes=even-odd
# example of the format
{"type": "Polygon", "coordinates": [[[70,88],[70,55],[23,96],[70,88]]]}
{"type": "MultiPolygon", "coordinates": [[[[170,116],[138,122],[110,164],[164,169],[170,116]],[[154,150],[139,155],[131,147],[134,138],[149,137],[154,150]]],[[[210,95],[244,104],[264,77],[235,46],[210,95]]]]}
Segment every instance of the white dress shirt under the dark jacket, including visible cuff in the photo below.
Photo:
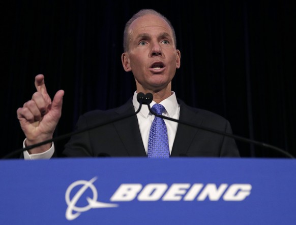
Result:
{"type": "MultiPolygon", "coordinates": [[[[156,104],[155,101],[150,103],[150,107],[156,104]]],[[[180,105],[177,103],[176,95],[172,91],[171,96],[161,101],[159,104],[162,104],[165,107],[165,111],[162,114],[165,117],[170,117],[173,119],[179,119],[180,115],[180,105]]],[[[135,107],[135,111],[138,110],[140,104],[137,101],[137,93],[134,93],[133,96],[133,105],[135,107]]],[[[148,147],[148,139],[151,124],[154,120],[154,115],[150,113],[147,105],[142,105],[141,110],[137,114],[140,133],[142,136],[142,141],[144,144],[144,148],[147,154],[148,147]]],[[[168,144],[169,144],[169,152],[171,153],[173,142],[175,139],[176,131],[177,131],[177,123],[169,120],[164,120],[167,127],[167,136],[168,136],[168,144]]],[[[23,147],[25,147],[25,140],[23,142],[23,147]]],[[[29,154],[27,151],[23,152],[25,160],[35,160],[35,159],[50,159],[54,153],[54,144],[52,143],[51,147],[44,153],[39,154],[29,154]]]]}

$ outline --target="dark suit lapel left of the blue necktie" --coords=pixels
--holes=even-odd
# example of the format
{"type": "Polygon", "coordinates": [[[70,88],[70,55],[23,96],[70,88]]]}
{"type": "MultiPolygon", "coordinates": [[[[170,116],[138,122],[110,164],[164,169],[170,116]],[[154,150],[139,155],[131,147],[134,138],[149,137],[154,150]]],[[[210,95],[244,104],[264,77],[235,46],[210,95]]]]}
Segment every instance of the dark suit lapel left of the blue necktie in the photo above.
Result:
{"type": "MultiPolygon", "coordinates": [[[[116,111],[119,115],[131,114],[134,112],[135,109],[131,99],[116,111]]],[[[129,156],[146,156],[137,116],[117,121],[114,123],[114,126],[127,149],[129,156]]]]}

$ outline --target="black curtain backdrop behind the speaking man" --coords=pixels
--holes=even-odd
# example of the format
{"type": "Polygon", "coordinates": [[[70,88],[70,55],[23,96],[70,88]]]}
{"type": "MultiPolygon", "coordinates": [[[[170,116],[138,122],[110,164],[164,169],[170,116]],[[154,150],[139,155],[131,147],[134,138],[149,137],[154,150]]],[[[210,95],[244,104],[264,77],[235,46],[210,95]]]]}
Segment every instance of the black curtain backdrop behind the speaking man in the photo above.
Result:
{"type": "MultiPolygon", "coordinates": [[[[22,147],[16,110],[45,74],[53,97],[65,90],[55,136],[79,115],[125,103],[134,93],[121,64],[123,30],[142,8],[175,27],[181,68],[172,89],[187,104],[230,121],[233,133],[296,156],[295,12],[293,1],[12,1],[2,4],[2,151],[22,147]]],[[[61,156],[68,139],[59,141],[61,156]]],[[[282,158],[236,141],[242,157],[282,158]]],[[[15,156],[18,158],[18,156],[15,156]]]]}

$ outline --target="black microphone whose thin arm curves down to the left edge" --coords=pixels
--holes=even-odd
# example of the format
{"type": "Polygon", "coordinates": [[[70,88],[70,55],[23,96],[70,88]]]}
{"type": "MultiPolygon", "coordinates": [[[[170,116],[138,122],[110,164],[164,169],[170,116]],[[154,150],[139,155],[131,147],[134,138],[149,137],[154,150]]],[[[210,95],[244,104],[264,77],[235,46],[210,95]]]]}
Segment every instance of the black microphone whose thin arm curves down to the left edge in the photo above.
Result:
{"type": "MultiPolygon", "coordinates": [[[[16,154],[20,154],[23,151],[27,151],[27,150],[32,149],[34,147],[39,147],[41,145],[44,145],[44,144],[47,144],[47,143],[50,143],[50,142],[54,142],[54,141],[59,141],[59,140],[65,139],[67,137],[70,137],[70,136],[72,136],[74,134],[79,134],[79,133],[82,133],[82,132],[85,132],[85,131],[88,131],[88,130],[95,129],[95,128],[100,127],[100,126],[107,125],[109,123],[113,123],[113,122],[116,122],[116,121],[120,121],[120,120],[129,118],[129,117],[135,116],[141,110],[142,104],[150,104],[150,102],[152,102],[152,99],[153,99],[152,94],[145,96],[143,93],[140,92],[140,93],[137,94],[137,100],[140,103],[140,105],[139,105],[138,110],[135,111],[135,113],[124,115],[124,116],[121,116],[121,117],[117,117],[115,119],[105,121],[104,123],[94,124],[92,126],[88,126],[88,127],[84,128],[84,129],[76,130],[76,131],[73,131],[73,132],[58,136],[58,137],[54,137],[54,138],[39,142],[37,144],[33,144],[33,145],[30,145],[30,146],[27,146],[27,147],[24,147],[24,148],[17,149],[16,151],[5,155],[4,157],[2,157],[2,159],[9,159],[10,157],[12,157],[12,156],[14,156],[16,154]]],[[[108,157],[108,154],[102,154],[102,155],[99,155],[99,157],[108,157]]]]}

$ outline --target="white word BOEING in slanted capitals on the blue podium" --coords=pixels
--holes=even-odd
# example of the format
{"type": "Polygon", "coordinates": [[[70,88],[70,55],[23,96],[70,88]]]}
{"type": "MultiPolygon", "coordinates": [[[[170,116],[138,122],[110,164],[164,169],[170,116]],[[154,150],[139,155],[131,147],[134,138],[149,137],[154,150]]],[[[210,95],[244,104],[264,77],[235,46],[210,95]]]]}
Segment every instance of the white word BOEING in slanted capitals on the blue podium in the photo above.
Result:
{"type": "Polygon", "coordinates": [[[217,187],[215,183],[194,183],[190,188],[189,183],[173,183],[169,189],[166,183],[149,183],[142,189],[139,183],[123,183],[110,198],[111,202],[133,201],[219,201],[223,196],[224,201],[243,201],[251,194],[251,184],[222,183],[217,187]],[[189,190],[188,190],[189,189],[189,190]],[[202,190],[201,190],[202,189],[202,190]],[[201,190],[201,192],[200,192],[201,190]],[[198,195],[198,193],[200,194],[198,195]],[[183,197],[184,196],[184,197],[183,197]],[[162,197],[162,198],[161,198],[162,197]]]}

